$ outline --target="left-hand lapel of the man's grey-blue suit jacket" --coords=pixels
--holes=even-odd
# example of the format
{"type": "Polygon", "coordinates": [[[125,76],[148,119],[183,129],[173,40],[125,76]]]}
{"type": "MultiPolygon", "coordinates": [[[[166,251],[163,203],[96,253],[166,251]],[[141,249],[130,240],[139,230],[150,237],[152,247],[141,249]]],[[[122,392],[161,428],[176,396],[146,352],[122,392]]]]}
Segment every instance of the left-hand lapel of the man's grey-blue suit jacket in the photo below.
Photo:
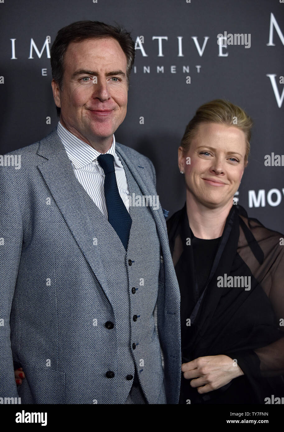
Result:
{"type": "Polygon", "coordinates": [[[98,248],[93,245],[93,227],[89,220],[86,201],[83,198],[82,186],[74,174],[72,164],[64,145],[57,135],[56,128],[39,143],[38,155],[44,159],[38,165],[38,169],[73,237],[95,273],[102,289],[109,297],[102,260],[98,248]]]}

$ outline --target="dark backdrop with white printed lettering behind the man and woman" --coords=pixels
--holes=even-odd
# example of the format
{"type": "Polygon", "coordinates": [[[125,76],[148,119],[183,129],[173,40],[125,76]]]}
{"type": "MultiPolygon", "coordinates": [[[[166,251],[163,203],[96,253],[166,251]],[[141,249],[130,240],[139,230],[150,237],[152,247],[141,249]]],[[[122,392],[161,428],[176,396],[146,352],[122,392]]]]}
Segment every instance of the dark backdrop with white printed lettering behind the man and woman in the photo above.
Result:
{"type": "MultiPolygon", "coordinates": [[[[0,154],[45,137],[58,118],[50,47],[59,29],[118,22],[137,41],[116,140],[148,156],[163,208],[185,202],[177,149],[196,108],[225,98],[254,120],[236,199],[284,232],[284,0],[0,0],[0,154]]],[[[1,160],[0,160],[1,162],[1,160]]]]}

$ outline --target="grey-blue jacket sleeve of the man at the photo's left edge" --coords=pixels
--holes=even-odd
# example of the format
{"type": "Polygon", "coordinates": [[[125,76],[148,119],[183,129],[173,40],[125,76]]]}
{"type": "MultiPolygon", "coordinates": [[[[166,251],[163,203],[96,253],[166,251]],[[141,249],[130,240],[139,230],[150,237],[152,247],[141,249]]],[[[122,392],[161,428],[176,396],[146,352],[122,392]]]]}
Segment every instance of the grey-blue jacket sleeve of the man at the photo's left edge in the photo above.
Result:
{"type": "Polygon", "coordinates": [[[10,342],[10,312],[23,238],[21,197],[15,186],[19,171],[14,167],[0,167],[0,397],[18,397],[10,342]]]}

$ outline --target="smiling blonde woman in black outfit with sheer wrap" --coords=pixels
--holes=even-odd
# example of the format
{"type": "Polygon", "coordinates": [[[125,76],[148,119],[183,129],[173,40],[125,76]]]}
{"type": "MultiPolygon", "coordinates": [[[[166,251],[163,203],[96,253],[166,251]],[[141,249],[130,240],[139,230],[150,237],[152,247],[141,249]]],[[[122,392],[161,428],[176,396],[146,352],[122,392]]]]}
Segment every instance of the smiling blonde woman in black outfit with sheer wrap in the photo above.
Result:
{"type": "Polygon", "coordinates": [[[181,292],[179,403],[284,397],[283,235],[233,203],[251,127],[218,99],[198,108],[179,147],[186,203],[167,222],[181,292]]]}

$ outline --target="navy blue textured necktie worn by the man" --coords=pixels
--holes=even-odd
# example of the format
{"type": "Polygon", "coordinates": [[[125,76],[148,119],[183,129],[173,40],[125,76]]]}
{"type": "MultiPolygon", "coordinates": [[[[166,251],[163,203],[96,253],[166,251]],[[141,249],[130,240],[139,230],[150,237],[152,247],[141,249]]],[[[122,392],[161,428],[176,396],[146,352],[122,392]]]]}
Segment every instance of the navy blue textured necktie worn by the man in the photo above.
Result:
{"type": "Polygon", "coordinates": [[[116,231],[121,243],[127,250],[132,219],[118,191],[115,178],[114,157],[110,153],[98,156],[99,165],[105,173],[105,202],[108,208],[108,222],[116,231]]]}

